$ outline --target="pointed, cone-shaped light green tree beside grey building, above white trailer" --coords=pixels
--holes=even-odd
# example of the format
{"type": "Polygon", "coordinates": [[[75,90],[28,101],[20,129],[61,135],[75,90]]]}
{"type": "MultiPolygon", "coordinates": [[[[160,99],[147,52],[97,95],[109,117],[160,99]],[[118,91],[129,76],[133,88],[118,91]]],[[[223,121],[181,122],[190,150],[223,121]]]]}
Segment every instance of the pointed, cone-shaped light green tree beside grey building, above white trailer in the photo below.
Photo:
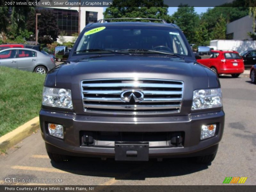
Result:
{"type": "Polygon", "coordinates": [[[226,39],[226,21],[222,14],[212,31],[212,39],[226,39]]]}

